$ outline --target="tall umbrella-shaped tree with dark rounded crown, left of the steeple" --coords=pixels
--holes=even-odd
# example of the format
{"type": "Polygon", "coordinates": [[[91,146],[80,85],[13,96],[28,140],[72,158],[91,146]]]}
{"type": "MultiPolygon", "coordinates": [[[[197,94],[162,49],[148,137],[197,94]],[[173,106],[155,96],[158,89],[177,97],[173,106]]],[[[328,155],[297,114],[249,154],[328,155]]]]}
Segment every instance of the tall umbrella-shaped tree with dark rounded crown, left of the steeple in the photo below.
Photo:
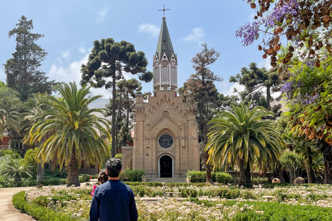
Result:
{"type": "MultiPolygon", "coordinates": [[[[123,79],[122,71],[133,75],[141,73],[140,80],[151,81],[153,74],[147,72],[147,58],[142,51],[136,52],[133,44],[127,41],[115,42],[114,39],[93,41],[93,49],[87,64],[82,64],[81,85],[90,84],[95,88],[111,88],[116,97],[116,81],[123,79]],[[111,79],[110,81],[107,81],[111,79]]],[[[112,100],[112,116],[116,116],[116,99],[112,100]]],[[[116,117],[112,117],[112,151],[116,156],[116,117]]]]}

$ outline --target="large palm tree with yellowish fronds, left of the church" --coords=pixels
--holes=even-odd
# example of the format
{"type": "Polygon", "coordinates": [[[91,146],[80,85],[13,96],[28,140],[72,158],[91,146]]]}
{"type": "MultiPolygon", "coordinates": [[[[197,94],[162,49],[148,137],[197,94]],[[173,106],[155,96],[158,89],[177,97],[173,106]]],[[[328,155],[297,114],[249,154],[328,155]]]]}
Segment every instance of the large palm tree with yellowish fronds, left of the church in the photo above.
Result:
{"type": "Polygon", "coordinates": [[[30,144],[46,141],[39,147],[37,157],[43,162],[53,160],[60,169],[66,166],[67,186],[80,186],[78,169],[81,160],[87,164],[101,165],[104,156],[109,155],[107,142],[111,139],[109,122],[93,113],[104,113],[102,108],[91,108],[89,104],[102,96],[87,97],[88,86],[77,89],[75,83],[56,86],[59,97],[48,96],[41,104],[52,106],[50,110],[37,115],[38,121],[30,128],[30,144]]]}

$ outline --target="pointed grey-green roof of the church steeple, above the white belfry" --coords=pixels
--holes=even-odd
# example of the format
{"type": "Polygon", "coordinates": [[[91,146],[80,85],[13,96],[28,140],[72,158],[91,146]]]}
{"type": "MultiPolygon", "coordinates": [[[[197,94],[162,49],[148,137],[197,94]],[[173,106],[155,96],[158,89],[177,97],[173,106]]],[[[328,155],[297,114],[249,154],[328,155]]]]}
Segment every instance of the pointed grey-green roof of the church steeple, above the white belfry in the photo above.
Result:
{"type": "Polygon", "coordinates": [[[167,24],[166,24],[166,18],[163,17],[163,23],[161,24],[159,39],[158,39],[158,45],[156,50],[156,55],[158,57],[158,61],[160,62],[163,54],[166,54],[168,61],[171,61],[172,55],[174,53],[171,37],[169,36],[167,24]]]}

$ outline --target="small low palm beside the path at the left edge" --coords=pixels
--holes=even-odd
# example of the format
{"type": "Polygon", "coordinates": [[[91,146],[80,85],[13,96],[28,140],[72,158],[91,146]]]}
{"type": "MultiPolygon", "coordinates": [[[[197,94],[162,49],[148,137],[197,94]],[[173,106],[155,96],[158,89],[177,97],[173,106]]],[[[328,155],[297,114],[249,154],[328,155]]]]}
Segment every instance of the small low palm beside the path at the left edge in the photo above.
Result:
{"type": "Polygon", "coordinates": [[[26,174],[32,177],[32,166],[27,166],[24,163],[24,159],[11,158],[8,164],[0,172],[0,175],[14,177],[15,182],[22,181],[21,176],[26,174]]]}

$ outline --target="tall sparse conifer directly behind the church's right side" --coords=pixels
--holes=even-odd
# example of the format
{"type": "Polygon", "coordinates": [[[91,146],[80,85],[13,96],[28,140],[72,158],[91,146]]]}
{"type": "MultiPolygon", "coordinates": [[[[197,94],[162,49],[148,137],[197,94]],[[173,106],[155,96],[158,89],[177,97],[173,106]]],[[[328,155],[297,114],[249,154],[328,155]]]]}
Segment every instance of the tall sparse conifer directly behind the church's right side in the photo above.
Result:
{"type": "Polygon", "coordinates": [[[208,142],[208,122],[217,111],[219,93],[216,90],[214,81],[221,81],[221,78],[214,75],[210,65],[219,57],[219,52],[214,48],[208,48],[202,44],[201,52],[192,58],[193,68],[196,73],[190,76],[183,88],[184,98],[188,102],[196,102],[196,122],[199,126],[199,142],[203,155],[202,166],[206,171],[206,182],[212,183],[211,166],[207,165],[208,153],[204,151],[208,142]]]}

